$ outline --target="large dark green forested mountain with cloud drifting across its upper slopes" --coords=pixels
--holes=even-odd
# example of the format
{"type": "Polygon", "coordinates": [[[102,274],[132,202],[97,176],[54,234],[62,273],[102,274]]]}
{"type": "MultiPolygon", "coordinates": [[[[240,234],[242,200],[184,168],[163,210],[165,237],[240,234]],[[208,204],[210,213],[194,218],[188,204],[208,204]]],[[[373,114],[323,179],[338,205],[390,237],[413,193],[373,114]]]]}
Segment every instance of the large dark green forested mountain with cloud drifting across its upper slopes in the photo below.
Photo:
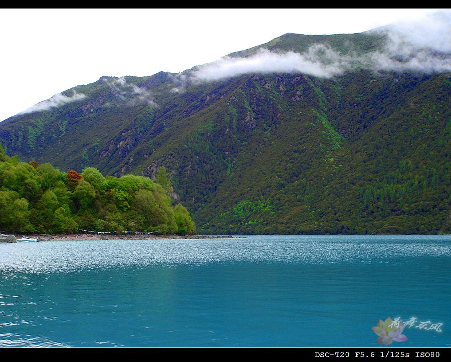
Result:
{"type": "Polygon", "coordinates": [[[104,76],[0,122],[0,143],[63,170],[165,166],[200,233],[449,233],[450,53],[397,35],[286,34],[104,76]]]}

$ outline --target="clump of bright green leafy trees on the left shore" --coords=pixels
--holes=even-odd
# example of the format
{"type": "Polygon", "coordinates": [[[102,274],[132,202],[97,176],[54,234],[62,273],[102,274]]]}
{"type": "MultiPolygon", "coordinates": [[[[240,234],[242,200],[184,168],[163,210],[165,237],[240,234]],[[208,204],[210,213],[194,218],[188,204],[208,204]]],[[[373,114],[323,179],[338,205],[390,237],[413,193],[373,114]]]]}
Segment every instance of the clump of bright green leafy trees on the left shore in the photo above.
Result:
{"type": "Polygon", "coordinates": [[[131,174],[104,177],[94,167],[63,173],[50,163],[20,162],[0,145],[0,230],[195,233],[187,210],[172,206],[164,167],[161,173],[156,183],[131,174]]]}

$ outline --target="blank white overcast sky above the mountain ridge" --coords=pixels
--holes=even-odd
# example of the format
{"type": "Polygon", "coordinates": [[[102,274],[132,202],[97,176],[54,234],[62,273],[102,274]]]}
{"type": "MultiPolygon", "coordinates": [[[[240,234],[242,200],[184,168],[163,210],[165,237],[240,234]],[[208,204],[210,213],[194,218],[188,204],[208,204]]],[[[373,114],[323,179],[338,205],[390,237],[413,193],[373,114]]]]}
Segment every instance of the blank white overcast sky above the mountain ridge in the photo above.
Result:
{"type": "Polygon", "coordinates": [[[2,9],[0,121],[101,76],[178,73],[286,33],[360,33],[438,9],[2,9]]]}

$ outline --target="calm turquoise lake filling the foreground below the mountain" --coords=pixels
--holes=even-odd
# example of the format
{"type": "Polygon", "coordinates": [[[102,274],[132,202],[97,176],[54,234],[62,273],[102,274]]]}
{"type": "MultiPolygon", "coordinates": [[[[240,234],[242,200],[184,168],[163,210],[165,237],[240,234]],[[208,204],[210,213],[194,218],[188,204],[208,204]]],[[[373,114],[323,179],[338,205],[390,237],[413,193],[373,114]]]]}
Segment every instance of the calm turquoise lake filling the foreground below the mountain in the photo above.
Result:
{"type": "Polygon", "coordinates": [[[0,347],[451,346],[451,236],[0,244],[0,347]]]}

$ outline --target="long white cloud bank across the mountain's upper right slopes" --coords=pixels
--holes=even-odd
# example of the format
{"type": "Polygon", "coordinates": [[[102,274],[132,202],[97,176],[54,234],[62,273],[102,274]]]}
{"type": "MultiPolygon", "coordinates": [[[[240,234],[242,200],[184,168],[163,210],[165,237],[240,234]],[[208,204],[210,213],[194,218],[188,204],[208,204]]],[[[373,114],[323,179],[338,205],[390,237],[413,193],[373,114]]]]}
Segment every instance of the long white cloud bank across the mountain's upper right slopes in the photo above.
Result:
{"type": "MultiPolygon", "coordinates": [[[[330,78],[354,67],[377,71],[451,71],[451,12],[376,30],[387,35],[381,51],[357,56],[343,55],[324,45],[314,45],[303,54],[284,54],[261,49],[245,58],[223,57],[199,66],[191,73],[194,81],[211,81],[249,73],[304,73],[330,78]]],[[[349,45],[352,47],[352,45],[349,45]]],[[[349,50],[351,50],[350,48],[349,50]]],[[[174,88],[177,91],[180,88],[174,88]]]]}

